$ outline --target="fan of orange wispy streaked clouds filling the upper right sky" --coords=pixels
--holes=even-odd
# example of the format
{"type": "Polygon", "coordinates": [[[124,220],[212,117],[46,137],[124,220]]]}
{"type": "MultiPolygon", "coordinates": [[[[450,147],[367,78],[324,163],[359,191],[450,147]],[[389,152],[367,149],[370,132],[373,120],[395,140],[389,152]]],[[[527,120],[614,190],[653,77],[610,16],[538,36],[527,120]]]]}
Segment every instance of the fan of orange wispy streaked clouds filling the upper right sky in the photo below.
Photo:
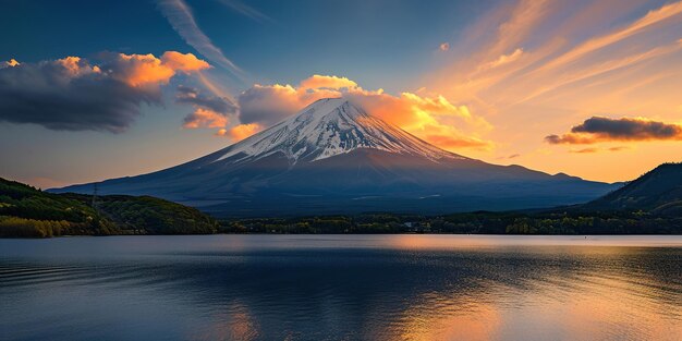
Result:
{"type": "MultiPolygon", "coordinates": [[[[496,156],[537,149],[547,130],[608,112],[677,122],[680,32],[679,0],[516,0],[464,29],[441,57],[449,60],[419,85],[465,103],[495,125],[496,156]]],[[[583,134],[565,137],[595,141],[583,134]]],[[[527,159],[536,162],[532,167],[546,165],[527,159]]]]}

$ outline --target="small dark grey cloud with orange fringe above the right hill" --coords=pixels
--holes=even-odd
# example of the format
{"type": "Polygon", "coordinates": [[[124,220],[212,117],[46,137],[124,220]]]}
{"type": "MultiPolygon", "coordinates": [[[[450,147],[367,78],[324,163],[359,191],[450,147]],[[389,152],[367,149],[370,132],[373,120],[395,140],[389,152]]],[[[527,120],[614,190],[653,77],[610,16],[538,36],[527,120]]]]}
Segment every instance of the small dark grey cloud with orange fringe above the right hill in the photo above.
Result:
{"type": "Polygon", "coordinates": [[[594,144],[609,141],[682,139],[682,126],[645,119],[594,117],[575,125],[570,133],[549,135],[550,144],[594,144]]]}

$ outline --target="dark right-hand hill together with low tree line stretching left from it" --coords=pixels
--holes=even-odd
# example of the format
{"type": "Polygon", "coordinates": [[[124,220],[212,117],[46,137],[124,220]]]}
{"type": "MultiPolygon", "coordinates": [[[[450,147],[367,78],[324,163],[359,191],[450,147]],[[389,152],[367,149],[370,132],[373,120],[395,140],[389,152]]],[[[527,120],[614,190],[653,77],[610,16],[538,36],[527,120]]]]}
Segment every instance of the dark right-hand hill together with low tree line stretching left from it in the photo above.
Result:
{"type": "Polygon", "coordinates": [[[593,202],[449,215],[241,218],[233,233],[682,234],[682,163],[663,163],[593,202]]]}

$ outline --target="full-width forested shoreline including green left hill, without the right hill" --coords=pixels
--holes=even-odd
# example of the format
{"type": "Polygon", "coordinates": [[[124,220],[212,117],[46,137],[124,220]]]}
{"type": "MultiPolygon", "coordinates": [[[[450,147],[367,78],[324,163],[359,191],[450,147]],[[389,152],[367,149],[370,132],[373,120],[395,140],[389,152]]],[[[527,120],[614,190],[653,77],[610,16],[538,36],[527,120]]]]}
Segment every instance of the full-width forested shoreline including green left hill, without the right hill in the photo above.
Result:
{"type": "MultiPolygon", "coordinates": [[[[363,214],[215,219],[195,208],[129,195],[52,194],[0,179],[0,238],[215,233],[682,234],[678,209],[363,214]]],[[[678,206],[675,206],[678,207],[678,206]]]]}

